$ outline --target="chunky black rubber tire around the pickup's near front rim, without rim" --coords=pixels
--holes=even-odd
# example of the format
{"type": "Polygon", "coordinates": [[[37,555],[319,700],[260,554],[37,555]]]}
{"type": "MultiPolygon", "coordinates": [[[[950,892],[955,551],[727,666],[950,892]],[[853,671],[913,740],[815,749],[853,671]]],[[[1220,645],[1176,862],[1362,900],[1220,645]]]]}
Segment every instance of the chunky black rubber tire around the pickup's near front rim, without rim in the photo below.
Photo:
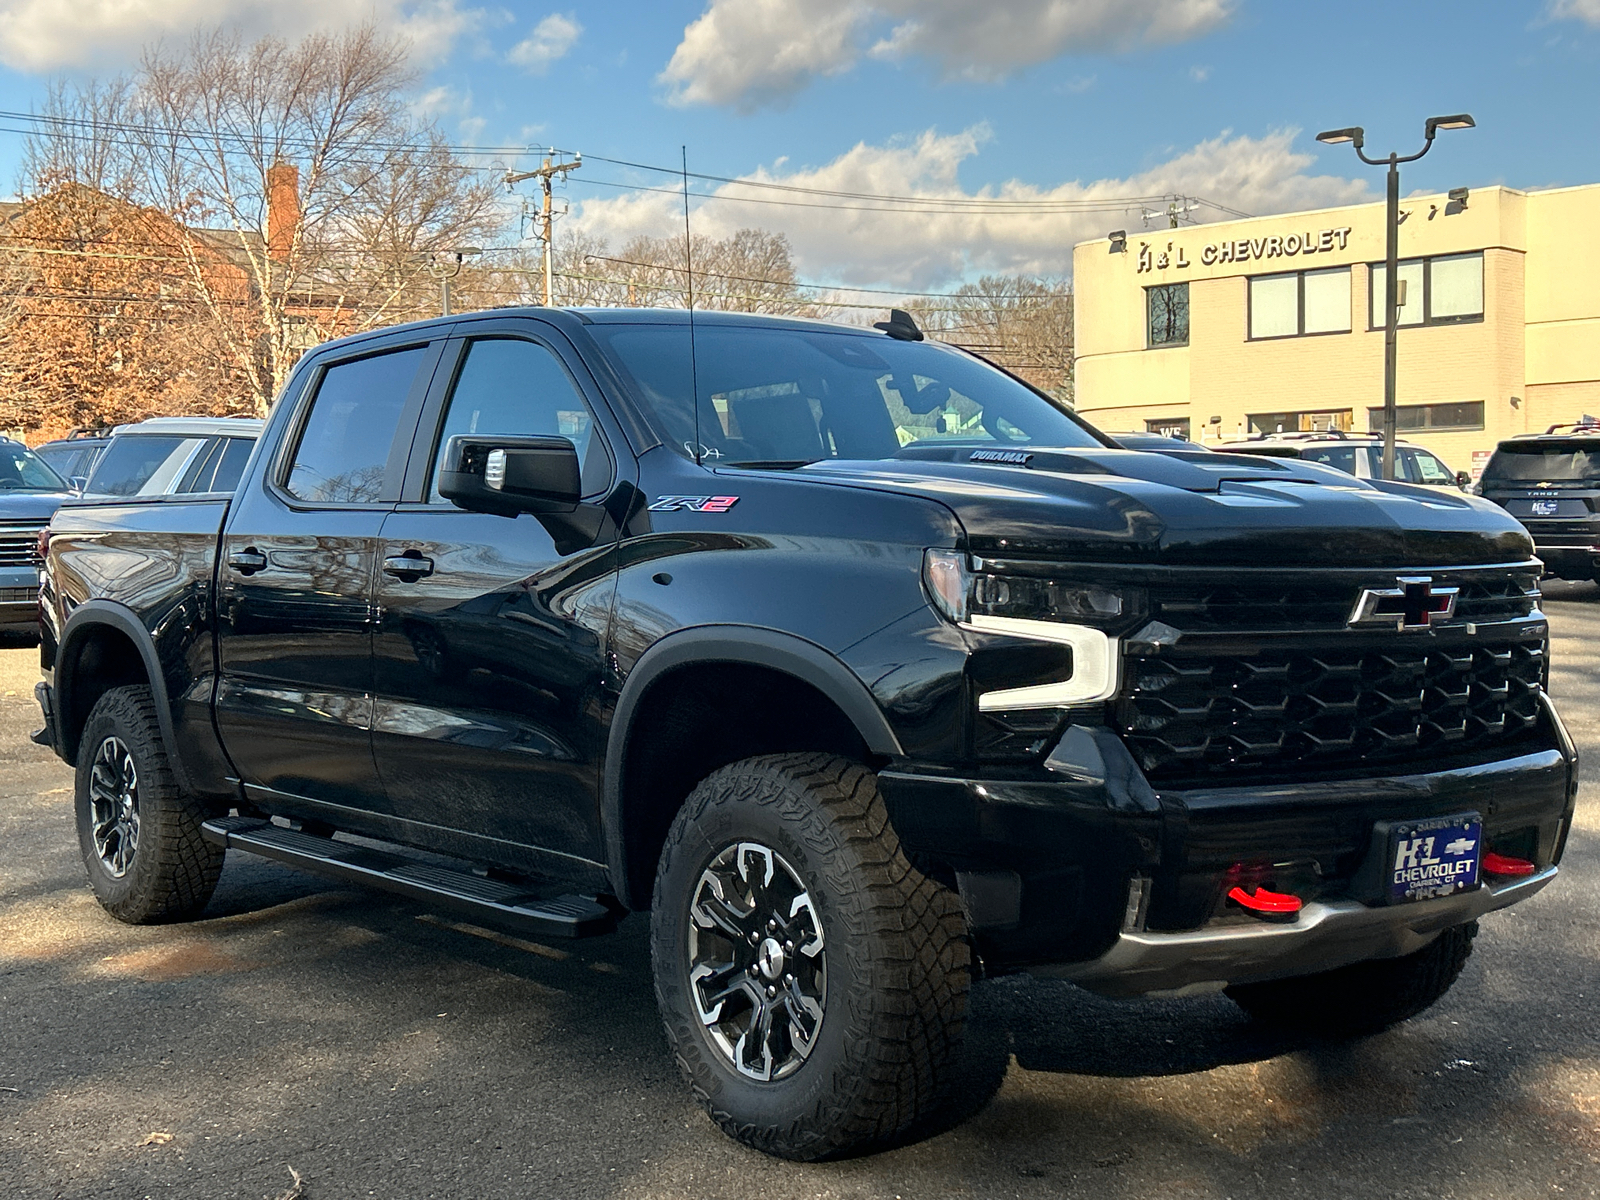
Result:
{"type": "MultiPolygon", "coordinates": [[[[829,754],[774,754],[712,773],[685,800],[656,875],[658,914],[667,902],[661,883],[685,837],[712,805],[728,802],[781,805],[784,819],[797,822],[813,846],[832,835],[843,853],[830,856],[827,886],[835,894],[866,893],[862,907],[874,930],[864,936],[883,946],[878,987],[872,995],[853,997],[858,1006],[869,1008],[870,1019],[866,1035],[851,1046],[850,1062],[835,1070],[829,1102],[787,1128],[755,1128],[718,1109],[696,1064],[685,1058],[683,1038],[674,1035],[678,1069],[728,1136],[766,1154],[818,1160],[894,1144],[949,1101],[971,987],[971,944],[960,899],[906,858],[869,768],[829,754]],[[854,869],[840,859],[854,859],[854,869]]],[[[830,933],[829,946],[835,941],[843,947],[846,939],[830,933]]],[[[850,941],[859,946],[862,931],[853,930],[850,941]]],[[[656,995],[667,1013],[661,978],[658,963],[656,995]]]]}

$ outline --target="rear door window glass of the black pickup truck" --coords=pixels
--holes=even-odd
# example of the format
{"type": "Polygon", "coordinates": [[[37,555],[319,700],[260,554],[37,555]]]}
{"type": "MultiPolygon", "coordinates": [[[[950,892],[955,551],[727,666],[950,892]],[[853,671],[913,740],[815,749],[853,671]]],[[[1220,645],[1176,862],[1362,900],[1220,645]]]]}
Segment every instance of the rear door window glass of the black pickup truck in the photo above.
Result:
{"type": "Polygon", "coordinates": [[[317,504],[373,504],[382,498],[389,448],[426,347],[390,350],[330,366],[285,488],[317,504]]]}

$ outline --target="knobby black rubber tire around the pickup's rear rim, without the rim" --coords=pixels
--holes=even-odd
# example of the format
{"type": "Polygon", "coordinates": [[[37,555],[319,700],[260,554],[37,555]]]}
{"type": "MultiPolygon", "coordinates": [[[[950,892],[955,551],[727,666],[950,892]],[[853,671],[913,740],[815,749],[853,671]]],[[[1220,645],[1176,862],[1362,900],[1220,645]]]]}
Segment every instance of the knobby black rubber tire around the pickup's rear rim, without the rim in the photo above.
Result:
{"type": "MultiPolygon", "coordinates": [[[[134,886],[122,901],[107,902],[101,896],[101,904],[128,925],[189,920],[205,909],[216,891],[226,851],[206,842],[200,832],[208,813],[178,786],[162,741],[155,696],[144,685],[112,688],[94,704],[78,746],[80,779],[104,738],[96,733],[104,720],[114,723],[115,733],[128,742],[138,763],[139,846],[134,851],[134,886]]],[[[83,853],[88,858],[91,851],[85,846],[83,853]]],[[[86,866],[93,872],[98,861],[86,866]]]]}

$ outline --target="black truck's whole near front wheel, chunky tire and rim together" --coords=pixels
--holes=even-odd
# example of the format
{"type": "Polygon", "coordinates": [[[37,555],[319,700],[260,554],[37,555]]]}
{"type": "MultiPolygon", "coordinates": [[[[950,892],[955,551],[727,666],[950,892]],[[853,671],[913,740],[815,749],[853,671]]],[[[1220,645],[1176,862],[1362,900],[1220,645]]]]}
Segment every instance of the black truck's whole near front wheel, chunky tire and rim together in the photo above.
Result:
{"type": "Polygon", "coordinates": [[[763,755],[701,782],[661,854],[651,954],[678,1067],[731,1138],[837,1157],[946,1106],[966,922],[906,859],[859,763],[763,755]]]}

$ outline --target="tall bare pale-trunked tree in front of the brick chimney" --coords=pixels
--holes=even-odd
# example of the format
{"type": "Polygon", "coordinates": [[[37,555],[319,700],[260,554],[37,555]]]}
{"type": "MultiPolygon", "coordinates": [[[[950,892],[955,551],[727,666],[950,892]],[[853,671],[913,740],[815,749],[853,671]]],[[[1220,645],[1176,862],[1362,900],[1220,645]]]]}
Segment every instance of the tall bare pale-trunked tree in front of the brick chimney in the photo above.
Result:
{"type": "Polygon", "coordinates": [[[506,224],[493,176],[413,115],[405,51],[373,24],[150,48],[131,78],[53,88],[29,186],[166,214],[190,299],[266,411],[309,346],[437,312],[434,258],[506,224]]]}

